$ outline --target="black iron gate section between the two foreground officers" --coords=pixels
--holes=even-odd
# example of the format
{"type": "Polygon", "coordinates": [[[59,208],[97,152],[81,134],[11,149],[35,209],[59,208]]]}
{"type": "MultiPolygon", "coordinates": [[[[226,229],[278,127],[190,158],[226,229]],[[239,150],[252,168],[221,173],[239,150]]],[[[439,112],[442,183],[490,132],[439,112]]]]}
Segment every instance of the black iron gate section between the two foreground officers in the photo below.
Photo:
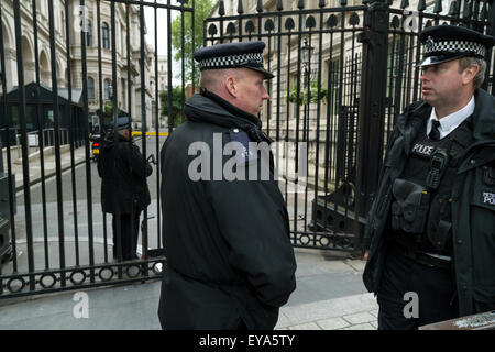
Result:
{"type": "MultiPolygon", "coordinates": [[[[358,2],[219,1],[205,23],[206,45],[267,44],[276,77],[262,119],[284,154],[279,185],[295,246],[359,253],[394,117],[420,98],[418,33],[451,23],[495,34],[488,0],[358,2]]],[[[488,56],[484,88],[494,94],[488,56]]]]}

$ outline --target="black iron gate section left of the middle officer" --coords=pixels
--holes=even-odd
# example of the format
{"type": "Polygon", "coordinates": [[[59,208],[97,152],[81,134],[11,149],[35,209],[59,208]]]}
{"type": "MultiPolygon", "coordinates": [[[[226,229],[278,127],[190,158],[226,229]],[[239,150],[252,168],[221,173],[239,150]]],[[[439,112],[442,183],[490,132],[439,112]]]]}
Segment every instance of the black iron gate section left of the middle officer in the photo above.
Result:
{"type": "Polygon", "coordinates": [[[161,108],[172,116],[160,95],[169,102],[172,73],[184,74],[172,68],[170,23],[193,16],[187,2],[0,2],[0,298],[160,277],[160,165],[147,179],[141,257],[112,260],[92,142],[129,116],[143,158],[160,154],[161,108]]]}

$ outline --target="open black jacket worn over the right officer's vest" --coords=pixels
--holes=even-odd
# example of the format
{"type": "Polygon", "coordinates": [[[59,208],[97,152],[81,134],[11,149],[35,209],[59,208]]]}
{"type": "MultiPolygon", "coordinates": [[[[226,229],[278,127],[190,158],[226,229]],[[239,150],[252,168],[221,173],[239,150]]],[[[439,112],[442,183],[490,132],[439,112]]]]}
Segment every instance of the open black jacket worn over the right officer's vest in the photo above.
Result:
{"type": "MultiPolygon", "coordinates": [[[[451,180],[452,261],[460,316],[477,312],[474,301],[495,308],[495,97],[477,89],[474,99],[474,142],[451,180]]],[[[403,173],[414,138],[430,112],[431,106],[424,101],[406,107],[389,138],[364,234],[370,254],[363,280],[370,292],[377,292],[384,267],[392,185],[403,173]]]]}

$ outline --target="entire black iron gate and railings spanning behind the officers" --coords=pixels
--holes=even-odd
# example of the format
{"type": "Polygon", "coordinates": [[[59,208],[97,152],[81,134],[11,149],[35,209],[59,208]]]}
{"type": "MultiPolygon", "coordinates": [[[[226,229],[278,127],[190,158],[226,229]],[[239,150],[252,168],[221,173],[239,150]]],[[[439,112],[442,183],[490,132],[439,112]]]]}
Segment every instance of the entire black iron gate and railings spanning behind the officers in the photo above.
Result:
{"type": "MultiPolygon", "coordinates": [[[[158,155],[174,125],[173,86],[183,101],[194,90],[185,63],[195,81],[191,57],[173,66],[172,18],[184,24],[195,8],[177,2],[0,2],[0,256],[11,256],[0,265],[0,298],[158,277],[160,165],[148,179],[141,258],[112,262],[91,140],[130,114],[144,157],[158,155]]],[[[493,0],[358,2],[219,1],[204,25],[207,45],[267,44],[276,77],[262,118],[277,142],[295,246],[359,250],[394,117],[420,97],[418,33],[447,22],[495,34],[493,0]]],[[[488,68],[484,87],[494,94],[493,53],[488,68]]]]}

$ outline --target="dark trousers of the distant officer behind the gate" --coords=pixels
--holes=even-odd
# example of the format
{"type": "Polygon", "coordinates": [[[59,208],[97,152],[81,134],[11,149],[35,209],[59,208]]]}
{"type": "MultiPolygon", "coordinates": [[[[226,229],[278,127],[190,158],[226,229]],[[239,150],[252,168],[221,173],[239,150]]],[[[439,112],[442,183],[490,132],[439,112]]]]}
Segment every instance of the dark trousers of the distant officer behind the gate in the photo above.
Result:
{"type": "Polygon", "coordinates": [[[117,215],[112,218],[113,229],[113,258],[118,258],[118,243],[122,250],[122,260],[130,261],[138,258],[138,237],[140,229],[140,215],[141,211],[135,213],[121,213],[120,215],[120,231],[121,235],[118,237],[117,229],[117,215]],[[120,239],[120,241],[118,241],[120,239]]]}

